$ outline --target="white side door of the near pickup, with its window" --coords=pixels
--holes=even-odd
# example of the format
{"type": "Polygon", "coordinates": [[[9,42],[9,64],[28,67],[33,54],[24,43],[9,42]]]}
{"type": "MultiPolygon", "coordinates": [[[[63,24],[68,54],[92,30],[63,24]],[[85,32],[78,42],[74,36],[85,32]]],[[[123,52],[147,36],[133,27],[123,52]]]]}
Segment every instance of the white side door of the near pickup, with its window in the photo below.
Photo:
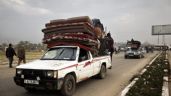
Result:
{"type": "Polygon", "coordinates": [[[80,54],[78,57],[78,74],[79,80],[84,80],[92,76],[93,66],[91,64],[91,57],[88,51],[80,49],[80,54]]]}

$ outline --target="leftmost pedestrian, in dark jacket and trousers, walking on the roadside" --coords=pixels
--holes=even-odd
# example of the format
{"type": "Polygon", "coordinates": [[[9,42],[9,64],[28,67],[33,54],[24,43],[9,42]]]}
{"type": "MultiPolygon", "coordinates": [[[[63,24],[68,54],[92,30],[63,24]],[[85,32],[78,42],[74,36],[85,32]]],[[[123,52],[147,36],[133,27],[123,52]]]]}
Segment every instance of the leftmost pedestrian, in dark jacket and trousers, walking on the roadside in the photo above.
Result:
{"type": "Polygon", "coordinates": [[[9,47],[6,49],[6,57],[9,60],[9,67],[12,68],[13,56],[16,56],[14,49],[12,48],[12,44],[9,44],[9,47]]]}

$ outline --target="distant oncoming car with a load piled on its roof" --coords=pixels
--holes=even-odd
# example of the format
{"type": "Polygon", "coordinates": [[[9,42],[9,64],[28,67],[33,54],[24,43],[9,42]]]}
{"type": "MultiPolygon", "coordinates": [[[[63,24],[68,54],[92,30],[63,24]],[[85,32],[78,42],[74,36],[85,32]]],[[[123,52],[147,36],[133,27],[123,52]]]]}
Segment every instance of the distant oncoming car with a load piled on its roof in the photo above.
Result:
{"type": "Polygon", "coordinates": [[[135,41],[133,39],[131,41],[127,41],[125,58],[127,59],[129,57],[137,57],[137,58],[144,57],[144,53],[142,52],[140,41],[135,41]]]}

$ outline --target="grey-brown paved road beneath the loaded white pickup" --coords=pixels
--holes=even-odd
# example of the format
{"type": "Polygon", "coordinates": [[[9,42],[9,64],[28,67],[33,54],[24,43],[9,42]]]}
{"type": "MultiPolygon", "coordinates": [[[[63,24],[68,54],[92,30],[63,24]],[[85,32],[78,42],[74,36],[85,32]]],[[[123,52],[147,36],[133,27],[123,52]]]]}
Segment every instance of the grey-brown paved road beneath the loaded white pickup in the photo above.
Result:
{"type": "MultiPolygon", "coordinates": [[[[113,68],[103,80],[91,78],[77,84],[74,96],[118,96],[129,80],[138,73],[155,55],[149,53],[143,59],[124,59],[122,53],[114,55],[113,68]]],[[[59,92],[37,91],[28,93],[15,85],[15,68],[0,65],[0,96],[61,96],[59,92]]]]}

